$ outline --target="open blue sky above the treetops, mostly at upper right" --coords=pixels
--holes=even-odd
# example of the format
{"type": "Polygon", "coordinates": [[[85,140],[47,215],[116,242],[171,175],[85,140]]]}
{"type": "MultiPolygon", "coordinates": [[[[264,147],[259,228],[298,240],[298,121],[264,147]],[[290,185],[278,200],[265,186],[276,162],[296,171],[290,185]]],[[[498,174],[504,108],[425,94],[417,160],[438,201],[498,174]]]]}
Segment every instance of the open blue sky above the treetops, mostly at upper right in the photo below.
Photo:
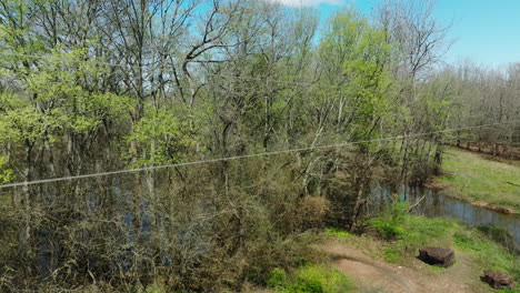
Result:
{"type": "MultiPolygon", "coordinates": [[[[363,13],[380,0],[271,0],[288,6],[313,6],[322,17],[353,4],[363,13]]],[[[464,59],[478,64],[498,67],[520,62],[520,0],[437,0],[437,18],[451,23],[448,38],[454,43],[447,53],[449,63],[464,59]]]]}

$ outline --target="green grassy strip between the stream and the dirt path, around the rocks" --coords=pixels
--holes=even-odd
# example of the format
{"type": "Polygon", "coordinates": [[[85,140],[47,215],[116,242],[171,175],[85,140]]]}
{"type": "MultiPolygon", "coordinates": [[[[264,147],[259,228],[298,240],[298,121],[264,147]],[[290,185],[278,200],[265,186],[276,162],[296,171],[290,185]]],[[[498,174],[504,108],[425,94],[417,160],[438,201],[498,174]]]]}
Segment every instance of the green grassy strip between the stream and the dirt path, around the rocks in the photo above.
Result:
{"type": "Polygon", "coordinates": [[[517,284],[520,282],[520,257],[513,252],[512,236],[506,230],[469,228],[448,219],[399,214],[400,209],[399,205],[393,206],[391,211],[371,220],[369,225],[374,233],[356,236],[329,230],[327,234],[340,239],[346,245],[363,250],[368,255],[404,266],[418,254],[420,247],[452,247],[470,255],[474,271],[496,270],[510,274],[517,284]]]}

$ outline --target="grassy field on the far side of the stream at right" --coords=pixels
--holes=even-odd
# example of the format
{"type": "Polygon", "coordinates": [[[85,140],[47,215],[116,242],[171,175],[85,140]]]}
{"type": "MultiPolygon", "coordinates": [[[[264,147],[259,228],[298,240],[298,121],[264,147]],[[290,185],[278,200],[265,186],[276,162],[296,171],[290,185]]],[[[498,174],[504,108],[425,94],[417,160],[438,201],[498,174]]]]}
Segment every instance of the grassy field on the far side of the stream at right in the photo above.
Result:
{"type": "Polygon", "coordinates": [[[488,160],[477,153],[448,149],[437,183],[450,195],[520,211],[520,164],[488,160]]]}

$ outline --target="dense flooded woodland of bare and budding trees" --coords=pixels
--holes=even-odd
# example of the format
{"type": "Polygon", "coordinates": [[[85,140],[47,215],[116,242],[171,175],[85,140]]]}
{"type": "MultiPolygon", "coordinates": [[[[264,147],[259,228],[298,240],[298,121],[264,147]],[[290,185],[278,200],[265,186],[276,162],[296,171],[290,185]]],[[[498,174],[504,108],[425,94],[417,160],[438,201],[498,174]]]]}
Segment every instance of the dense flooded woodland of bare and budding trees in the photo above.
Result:
{"type": "Polygon", "coordinates": [[[520,65],[447,65],[449,29],[430,1],[0,0],[0,183],[283,151],[1,189],[0,291],[262,285],[448,141],[520,143],[520,65]]]}

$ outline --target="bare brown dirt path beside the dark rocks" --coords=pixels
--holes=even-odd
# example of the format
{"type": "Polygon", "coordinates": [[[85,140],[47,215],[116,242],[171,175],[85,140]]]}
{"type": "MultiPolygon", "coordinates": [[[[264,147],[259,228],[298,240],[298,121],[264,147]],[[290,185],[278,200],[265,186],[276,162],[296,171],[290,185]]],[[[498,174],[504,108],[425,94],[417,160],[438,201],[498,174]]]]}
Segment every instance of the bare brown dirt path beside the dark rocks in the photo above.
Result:
{"type": "Polygon", "coordinates": [[[479,281],[479,272],[471,259],[456,251],[457,263],[447,270],[432,270],[412,259],[407,266],[386,263],[363,254],[360,250],[338,242],[329,242],[320,250],[333,260],[333,266],[350,275],[359,292],[376,293],[474,293],[489,292],[479,281]]]}

